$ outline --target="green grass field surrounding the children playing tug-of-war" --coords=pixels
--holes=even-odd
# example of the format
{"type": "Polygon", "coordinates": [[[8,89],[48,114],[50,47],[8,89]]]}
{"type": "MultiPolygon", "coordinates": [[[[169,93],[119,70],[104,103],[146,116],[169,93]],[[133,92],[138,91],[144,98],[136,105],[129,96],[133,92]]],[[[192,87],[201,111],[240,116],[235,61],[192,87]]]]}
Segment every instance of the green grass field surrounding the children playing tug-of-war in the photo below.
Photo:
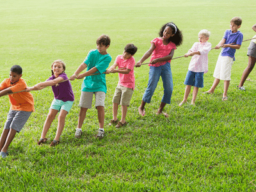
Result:
{"type": "MultiPolygon", "coordinates": [[[[134,58],[150,47],[163,24],[173,21],[182,30],[183,44],[175,51],[184,55],[198,40],[201,29],[211,31],[215,46],[229,29],[230,19],[243,19],[244,40],[252,38],[255,1],[3,1],[0,6],[0,77],[8,77],[12,65],[20,65],[28,86],[51,75],[51,63],[61,59],[71,76],[86,54],[96,48],[96,39],[111,37],[111,65],[128,43],[138,46],[134,58]],[[232,5],[231,5],[232,4],[232,5]]],[[[90,109],[83,136],[75,140],[81,80],[72,82],[75,104],[66,118],[61,143],[49,148],[57,120],[48,132],[49,143],[36,141],[44,125],[53,94],[51,88],[33,93],[36,111],[0,159],[0,191],[256,191],[255,82],[246,82],[246,92],[236,88],[248,63],[250,42],[236,52],[227,102],[221,101],[223,81],[214,95],[203,95],[214,80],[220,50],[209,53],[209,72],[199,90],[196,106],[178,106],[184,95],[184,79],[191,58],[172,61],[170,118],[156,116],[163,96],[159,81],[147,115],[138,115],[147,87],[148,66],[135,69],[136,89],[124,129],[108,127],[117,74],[106,76],[106,138],[96,140],[97,110],[90,109]]],[[[148,61],[148,60],[147,60],[148,61]]],[[[250,74],[256,79],[255,71],[250,74]]],[[[189,101],[191,95],[189,95],[189,101]]],[[[3,129],[10,104],[1,97],[0,127],[3,129]]],[[[120,113],[119,113],[120,116],[120,113]]]]}

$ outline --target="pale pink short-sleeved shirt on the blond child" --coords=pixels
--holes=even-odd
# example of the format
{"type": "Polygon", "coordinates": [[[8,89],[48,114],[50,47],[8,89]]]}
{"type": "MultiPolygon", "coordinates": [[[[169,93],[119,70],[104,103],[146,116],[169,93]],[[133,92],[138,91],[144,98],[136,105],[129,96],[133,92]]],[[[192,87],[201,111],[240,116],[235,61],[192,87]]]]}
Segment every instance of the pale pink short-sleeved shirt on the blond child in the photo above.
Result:
{"type": "Polygon", "coordinates": [[[193,72],[208,72],[208,52],[211,51],[212,44],[209,42],[205,42],[200,44],[200,42],[196,42],[189,51],[199,51],[199,54],[195,54],[189,63],[188,70],[193,72]]]}

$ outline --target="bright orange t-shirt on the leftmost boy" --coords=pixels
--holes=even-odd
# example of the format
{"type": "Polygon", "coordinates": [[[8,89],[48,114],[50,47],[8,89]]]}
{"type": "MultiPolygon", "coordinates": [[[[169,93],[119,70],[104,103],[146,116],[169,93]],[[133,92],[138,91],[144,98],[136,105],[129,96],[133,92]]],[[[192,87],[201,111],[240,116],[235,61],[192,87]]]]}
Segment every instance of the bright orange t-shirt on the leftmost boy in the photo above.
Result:
{"type": "MultiPolygon", "coordinates": [[[[10,79],[4,79],[4,81],[0,84],[0,90],[4,90],[6,88],[10,88],[12,92],[19,92],[27,88],[26,81],[20,78],[14,84],[11,84],[10,79]]],[[[11,103],[11,109],[13,111],[35,111],[34,108],[34,98],[30,92],[20,92],[8,95],[11,103]]]]}

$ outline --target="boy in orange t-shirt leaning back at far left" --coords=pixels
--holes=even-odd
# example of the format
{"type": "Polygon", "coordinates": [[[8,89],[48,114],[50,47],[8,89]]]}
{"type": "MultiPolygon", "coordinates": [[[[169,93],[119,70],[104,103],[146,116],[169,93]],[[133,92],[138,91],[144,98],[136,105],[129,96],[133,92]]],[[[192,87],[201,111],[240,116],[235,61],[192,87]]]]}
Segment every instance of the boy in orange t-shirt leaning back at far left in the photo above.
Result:
{"type": "Polygon", "coordinates": [[[8,95],[11,103],[0,138],[0,157],[2,158],[8,155],[7,149],[16,132],[21,131],[31,113],[35,111],[33,95],[29,92],[20,92],[28,87],[21,76],[22,68],[19,65],[13,65],[10,70],[10,77],[4,79],[0,84],[0,97],[8,95]]]}

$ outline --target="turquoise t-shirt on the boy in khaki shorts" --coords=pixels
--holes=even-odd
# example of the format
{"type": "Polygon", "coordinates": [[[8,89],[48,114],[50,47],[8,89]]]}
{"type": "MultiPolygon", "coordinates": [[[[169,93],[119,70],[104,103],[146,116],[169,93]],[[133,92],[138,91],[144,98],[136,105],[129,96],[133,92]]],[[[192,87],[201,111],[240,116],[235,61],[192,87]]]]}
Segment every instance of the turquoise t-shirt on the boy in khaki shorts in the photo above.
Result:
{"type": "Polygon", "coordinates": [[[110,54],[100,54],[97,49],[91,50],[86,56],[84,63],[87,65],[87,70],[93,67],[97,68],[95,76],[86,76],[82,84],[82,92],[105,92],[107,93],[106,75],[102,74],[108,68],[112,58],[110,54]]]}

